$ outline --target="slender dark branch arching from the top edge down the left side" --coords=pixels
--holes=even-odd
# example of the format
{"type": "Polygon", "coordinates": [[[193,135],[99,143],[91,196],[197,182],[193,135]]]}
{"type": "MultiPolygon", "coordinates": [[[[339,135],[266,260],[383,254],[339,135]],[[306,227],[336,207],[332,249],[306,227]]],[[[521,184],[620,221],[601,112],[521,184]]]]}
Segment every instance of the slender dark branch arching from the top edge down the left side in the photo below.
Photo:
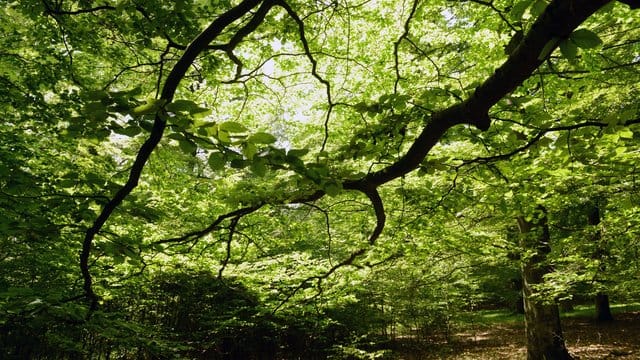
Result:
{"type": "MultiPolygon", "coordinates": [[[[160,99],[165,103],[171,102],[173,100],[176,89],[180,84],[180,81],[185,76],[187,70],[189,69],[189,67],[191,67],[191,64],[193,64],[193,61],[196,59],[196,57],[202,51],[204,51],[207,45],[211,41],[213,41],[227,26],[249,13],[251,9],[257,6],[259,3],[260,0],[245,0],[241,2],[237,6],[220,15],[202,33],[200,33],[200,35],[198,35],[193,40],[193,42],[189,44],[182,57],[178,60],[176,65],[167,76],[167,79],[165,80],[164,86],[162,88],[160,99]]],[[[93,291],[93,281],[89,270],[89,257],[91,255],[93,239],[95,238],[96,234],[100,232],[100,229],[102,229],[102,226],[105,224],[107,219],[109,219],[115,209],[122,203],[124,198],[127,197],[131,193],[131,191],[133,191],[133,189],[135,189],[135,187],[138,185],[140,175],[142,174],[142,169],[151,156],[151,153],[162,139],[162,135],[166,127],[165,115],[162,114],[161,111],[156,114],[153,128],[151,129],[151,133],[149,134],[149,138],[147,138],[147,140],[138,151],[133,166],[131,167],[131,172],[129,174],[127,182],[122,186],[122,188],[120,188],[120,190],[118,190],[111,201],[109,201],[102,208],[100,215],[98,215],[96,220],[93,222],[93,225],[87,230],[82,242],[82,252],[80,254],[80,270],[82,272],[82,277],[84,280],[83,288],[85,291],[85,295],[90,302],[89,316],[97,308],[98,305],[98,296],[93,291]]]]}

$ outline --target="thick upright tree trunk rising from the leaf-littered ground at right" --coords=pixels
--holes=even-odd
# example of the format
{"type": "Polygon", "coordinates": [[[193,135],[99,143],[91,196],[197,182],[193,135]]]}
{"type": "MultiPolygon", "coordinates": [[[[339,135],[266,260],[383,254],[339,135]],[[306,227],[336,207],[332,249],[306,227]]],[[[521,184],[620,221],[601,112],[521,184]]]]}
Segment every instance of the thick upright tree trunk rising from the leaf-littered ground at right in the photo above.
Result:
{"type": "Polygon", "coordinates": [[[564,344],[558,305],[545,304],[533,297],[535,285],[541,284],[544,275],[552,271],[551,266],[545,264],[551,247],[544,208],[540,208],[538,219],[518,218],[518,227],[523,250],[533,253],[522,262],[527,360],[573,359],[564,344]]]}

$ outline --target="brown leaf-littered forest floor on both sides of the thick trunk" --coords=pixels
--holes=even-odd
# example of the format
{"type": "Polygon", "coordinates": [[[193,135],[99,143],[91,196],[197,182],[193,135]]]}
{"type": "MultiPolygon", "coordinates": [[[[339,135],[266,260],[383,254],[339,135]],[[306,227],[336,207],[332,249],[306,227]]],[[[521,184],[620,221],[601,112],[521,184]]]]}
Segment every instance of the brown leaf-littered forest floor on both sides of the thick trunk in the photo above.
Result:
{"type": "MultiPolygon", "coordinates": [[[[619,313],[610,323],[589,317],[562,319],[569,352],[576,360],[640,359],[640,311],[619,313]]],[[[471,324],[453,332],[448,341],[402,351],[405,360],[521,360],[526,359],[522,321],[471,324]]]]}

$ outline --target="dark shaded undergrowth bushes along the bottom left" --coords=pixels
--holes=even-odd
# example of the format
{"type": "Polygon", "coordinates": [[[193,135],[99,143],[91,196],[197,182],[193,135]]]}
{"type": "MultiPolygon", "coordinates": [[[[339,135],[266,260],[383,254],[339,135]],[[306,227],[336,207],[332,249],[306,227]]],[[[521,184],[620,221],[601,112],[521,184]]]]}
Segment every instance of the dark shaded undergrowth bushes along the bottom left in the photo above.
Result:
{"type": "Polygon", "coordinates": [[[0,326],[0,358],[326,359],[343,345],[384,344],[383,314],[367,303],[273,315],[235,279],[162,273],[147,284],[88,321],[71,303],[16,314],[0,326]]]}

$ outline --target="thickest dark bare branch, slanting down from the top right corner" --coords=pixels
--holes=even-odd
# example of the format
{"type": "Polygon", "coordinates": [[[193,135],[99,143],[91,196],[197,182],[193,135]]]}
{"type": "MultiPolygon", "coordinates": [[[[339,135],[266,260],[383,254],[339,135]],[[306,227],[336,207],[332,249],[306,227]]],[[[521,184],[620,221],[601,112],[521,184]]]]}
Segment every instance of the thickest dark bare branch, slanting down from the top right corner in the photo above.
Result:
{"type": "Polygon", "coordinates": [[[468,124],[480,130],[489,129],[489,109],[533,74],[548,56],[543,54],[543,50],[549,45],[555,49],[559,39],[567,38],[584,20],[609,1],[553,1],[513,53],[475,89],[471,97],[433,113],[409,150],[395,163],[360,180],[349,181],[345,183],[345,187],[378,186],[415,170],[444,133],[455,125],[468,124]]]}

